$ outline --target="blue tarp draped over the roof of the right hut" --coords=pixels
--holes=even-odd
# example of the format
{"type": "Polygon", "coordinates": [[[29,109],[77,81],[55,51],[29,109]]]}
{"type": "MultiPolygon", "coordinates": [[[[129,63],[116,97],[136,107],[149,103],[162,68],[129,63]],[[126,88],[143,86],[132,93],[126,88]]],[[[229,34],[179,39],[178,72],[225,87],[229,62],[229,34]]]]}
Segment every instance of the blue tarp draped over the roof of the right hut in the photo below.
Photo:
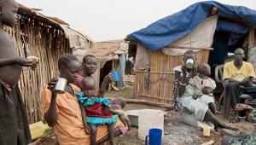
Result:
{"type": "Polygon", "coordinates": [[[256,28],[255,10],[207,1],[195,3],[187,9],[183,9],[176,14],[154,22],[146,28],[133,32],[127,37],[143,44],[149,50],[161,49],[192,32],[196,26],[207,18],[213,6],[218,7],[219,16],[227,18],[239,17],[250,26],[256,28]]]}

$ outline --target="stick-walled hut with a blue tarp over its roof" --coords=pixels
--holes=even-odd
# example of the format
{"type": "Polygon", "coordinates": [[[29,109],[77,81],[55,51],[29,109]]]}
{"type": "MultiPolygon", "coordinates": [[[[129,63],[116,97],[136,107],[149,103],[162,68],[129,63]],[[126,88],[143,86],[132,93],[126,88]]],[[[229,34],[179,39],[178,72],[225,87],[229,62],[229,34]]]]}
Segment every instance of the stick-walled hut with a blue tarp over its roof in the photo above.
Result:
{"type": "Polygon", "coordinates": [[[136,58],[135,96],[171,102],[172,69],[183,64],[188,49],[197,53],[197,63],[209,63],[214,70],[241,47],[255,67],[255,16],[245,7],[201,2],[128,35],[128,52],[136,58]]]}

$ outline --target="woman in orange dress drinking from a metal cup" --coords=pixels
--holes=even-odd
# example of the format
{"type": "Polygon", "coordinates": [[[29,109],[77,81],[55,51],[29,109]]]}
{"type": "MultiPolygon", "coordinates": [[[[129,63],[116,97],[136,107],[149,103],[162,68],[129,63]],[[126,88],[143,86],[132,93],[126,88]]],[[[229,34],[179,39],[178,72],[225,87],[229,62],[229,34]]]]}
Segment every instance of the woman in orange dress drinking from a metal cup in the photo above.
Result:
{"type": "MultiPolygon", "coordinates": [[[[61,55],[58,60],[58,68],[61,78],[67,79],[67,87],[64,94],[55,94],[53,88],[58,78],[52,78],[42,90],[42,103],[44,119],[47,124],[54,127],[55,135],[61,145],[89,145],[90,136],[85,133],[79,102],[75,96],[81,91],[72,84],[77,80],[79,74],[79,60],[73,55],[61,55]]],[[[120,115],[119,120],[114,125],[114,135],[119,136],[120,126],[128,126],[131,122],[125,115],[120,115]]],[[[108,129],[106,125],[98,125],[96,134],[96,144],[108,141],[108,129]]]]}

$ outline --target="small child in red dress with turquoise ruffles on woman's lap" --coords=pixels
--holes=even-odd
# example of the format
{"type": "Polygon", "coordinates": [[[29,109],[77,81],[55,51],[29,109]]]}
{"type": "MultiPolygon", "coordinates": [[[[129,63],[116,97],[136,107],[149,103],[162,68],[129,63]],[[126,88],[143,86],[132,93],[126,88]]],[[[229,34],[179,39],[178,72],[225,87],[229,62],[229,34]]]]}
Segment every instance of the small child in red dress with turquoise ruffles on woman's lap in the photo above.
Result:
{"type": "Polygon", "coordinates": [[[117,114],[121,113],[109,107],[108,98],[94,96],[95,80],[92,77],[84,77],[81,84],[83,94],[76,93],[76,96],[81,105],[85,131],[90,133],[91,144],[96,144],[96,125],[108,125],[110,143],[115,144],[113,124],[118,120],[117,114]]]}

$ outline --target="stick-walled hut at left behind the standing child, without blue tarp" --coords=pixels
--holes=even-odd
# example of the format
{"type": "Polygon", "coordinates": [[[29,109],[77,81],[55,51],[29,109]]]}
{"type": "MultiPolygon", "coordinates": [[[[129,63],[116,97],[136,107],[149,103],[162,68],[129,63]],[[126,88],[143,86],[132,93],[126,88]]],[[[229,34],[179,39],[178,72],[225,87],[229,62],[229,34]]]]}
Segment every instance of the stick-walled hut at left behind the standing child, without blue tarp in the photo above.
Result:
{"type": "Polygon", "coordinates": [[[23,69],[19,87],[30,123],[43,119],[40,92],[50,78],[58,76],[57,60],[62,54],[72,54],[73,48],[89,49],[91,40],[54,17],[38,13],[19,4],[15,27],[4,27],[15,42],[20,56],[35,55],[39,65],[35,71],[23,69]]]}

